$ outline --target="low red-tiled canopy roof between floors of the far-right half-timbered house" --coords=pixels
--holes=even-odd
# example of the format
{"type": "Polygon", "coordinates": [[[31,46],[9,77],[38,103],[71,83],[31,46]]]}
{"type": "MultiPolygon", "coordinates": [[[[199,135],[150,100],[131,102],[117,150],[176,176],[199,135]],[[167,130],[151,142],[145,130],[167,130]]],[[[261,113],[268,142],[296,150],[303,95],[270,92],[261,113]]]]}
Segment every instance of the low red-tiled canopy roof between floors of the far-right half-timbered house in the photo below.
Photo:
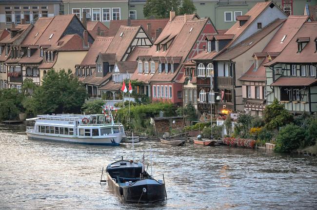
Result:
{"type": "Polygon", "coordinates": [[[308,77],[280,77],[271,86],[311,86],[317,82],[315,78],[308,77]]]}

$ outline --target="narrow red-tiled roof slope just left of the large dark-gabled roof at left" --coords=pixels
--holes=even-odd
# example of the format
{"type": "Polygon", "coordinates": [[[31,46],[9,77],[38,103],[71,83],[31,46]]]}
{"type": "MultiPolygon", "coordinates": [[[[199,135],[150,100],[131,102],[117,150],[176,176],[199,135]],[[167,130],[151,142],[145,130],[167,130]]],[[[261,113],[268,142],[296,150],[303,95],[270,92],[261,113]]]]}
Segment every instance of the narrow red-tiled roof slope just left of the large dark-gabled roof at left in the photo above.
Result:
{"type": "Polygon", "coordinates": [[[39,38],[42,36],[43,32],[47,26],[51,23],[54,18],[39,18],[31,29],[30,33],[25,37],[22,44],[23,45],[34,45],[39,38]]]}

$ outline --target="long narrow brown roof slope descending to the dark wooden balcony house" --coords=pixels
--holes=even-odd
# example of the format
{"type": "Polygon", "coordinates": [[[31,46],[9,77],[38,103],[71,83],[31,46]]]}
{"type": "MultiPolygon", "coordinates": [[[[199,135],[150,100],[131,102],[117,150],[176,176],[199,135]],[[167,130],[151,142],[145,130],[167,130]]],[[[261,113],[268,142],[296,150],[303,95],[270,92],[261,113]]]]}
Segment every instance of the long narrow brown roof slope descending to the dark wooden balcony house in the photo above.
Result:
{"type": "Polygon", "coordinates": [[[269,25],[262,28],[262,30],[253,34],[251,37],[244,39],[234,47],[231,47],[218,55],[214,60],[230,60],[238,57],[239,55],[245,53],[247,50],[251,49],[254,45],[256,45],[260,40],[270,34],[272,31],[276,30],[281,24],[285,21],[285,19],[277,19],[270,23],[269,25]]]}

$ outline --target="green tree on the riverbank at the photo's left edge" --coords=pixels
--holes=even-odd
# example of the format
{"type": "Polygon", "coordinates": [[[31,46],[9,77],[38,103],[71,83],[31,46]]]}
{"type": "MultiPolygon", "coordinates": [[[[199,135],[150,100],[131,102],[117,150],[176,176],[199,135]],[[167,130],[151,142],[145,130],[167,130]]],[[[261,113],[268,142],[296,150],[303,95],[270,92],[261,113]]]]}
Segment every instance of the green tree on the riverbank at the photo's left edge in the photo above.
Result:
{"type": "Polygon", "coordinates": [[[17,89],[0,90],[0,119],[17,119],[24,111],[22,106],[23,94],[17,89]]]}

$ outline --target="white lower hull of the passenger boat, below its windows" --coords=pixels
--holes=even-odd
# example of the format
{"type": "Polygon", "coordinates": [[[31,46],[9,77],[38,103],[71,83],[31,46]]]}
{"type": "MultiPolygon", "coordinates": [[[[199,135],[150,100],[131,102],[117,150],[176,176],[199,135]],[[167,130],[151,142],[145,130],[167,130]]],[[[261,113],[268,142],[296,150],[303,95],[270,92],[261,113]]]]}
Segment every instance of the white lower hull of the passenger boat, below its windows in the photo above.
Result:
{"type": "Polygon", "coordinates": [[[76,136],[63,136],[59,134],[35,134],[26,132],[29,139],[34,140],[48,140],[48,141],[61,141],[61,142],[70,142],[78,144],[92,144],[92,145],[119,145],[123,133],[119,134],[109,134],[106,136],[93,136],[93,137],[76,137],[76,136]]]}

